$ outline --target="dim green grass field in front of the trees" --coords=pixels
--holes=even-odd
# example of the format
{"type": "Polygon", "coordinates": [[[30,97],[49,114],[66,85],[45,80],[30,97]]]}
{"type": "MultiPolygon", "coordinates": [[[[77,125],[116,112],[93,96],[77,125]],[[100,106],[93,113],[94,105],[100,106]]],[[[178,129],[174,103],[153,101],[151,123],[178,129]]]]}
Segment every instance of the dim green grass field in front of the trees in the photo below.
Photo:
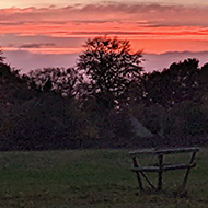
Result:
{"type": "Polygon", "coordinates": [[[140,193],[128,150],[1,152],[0,208],[207,208],[208,149],[196,163],[181,198],[184,171],[164,175],[163,193],[140,193]]]}

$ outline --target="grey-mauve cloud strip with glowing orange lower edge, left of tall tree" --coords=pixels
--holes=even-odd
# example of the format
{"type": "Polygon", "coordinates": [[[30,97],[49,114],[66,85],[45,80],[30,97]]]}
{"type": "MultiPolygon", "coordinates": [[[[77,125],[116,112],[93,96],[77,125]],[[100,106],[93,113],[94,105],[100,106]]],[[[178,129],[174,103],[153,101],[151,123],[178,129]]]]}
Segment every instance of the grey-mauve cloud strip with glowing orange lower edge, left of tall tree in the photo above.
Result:
{"type": "Polygon", "coordinates": [[[5,34],[0,36],[2,50],[28,50],[41,54],[71,54],[82,50],[86,38],[82,37],[51,37],[45,35],[20,36],[5,34]],[[38,43],[37,43],[38,42],[38,43]]]}

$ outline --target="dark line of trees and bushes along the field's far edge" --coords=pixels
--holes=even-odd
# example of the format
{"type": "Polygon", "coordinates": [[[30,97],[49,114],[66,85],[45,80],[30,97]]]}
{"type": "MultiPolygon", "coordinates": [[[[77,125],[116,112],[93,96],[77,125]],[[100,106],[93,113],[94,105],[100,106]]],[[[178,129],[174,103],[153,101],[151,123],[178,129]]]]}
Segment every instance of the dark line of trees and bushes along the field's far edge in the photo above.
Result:
{"type": "Polygon", "coordinates": [[[74,68],[20,74],[0,56],[0,150],[140,148],[208,142],[208,63],[146,73],[128,41],[85,43],[74,68]],[[150,135],[136,134],[132,119],[150,135]]]}

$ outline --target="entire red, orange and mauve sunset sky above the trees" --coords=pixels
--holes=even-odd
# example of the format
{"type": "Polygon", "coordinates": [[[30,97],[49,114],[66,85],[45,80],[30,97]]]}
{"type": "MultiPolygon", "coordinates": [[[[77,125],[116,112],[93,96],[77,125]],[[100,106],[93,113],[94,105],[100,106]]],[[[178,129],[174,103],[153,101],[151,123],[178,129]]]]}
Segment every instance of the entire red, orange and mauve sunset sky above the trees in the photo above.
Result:
{"type": "Polygon", "coordinates": [[[102,35],[129,39],[147,71],[193,56],[204,63],[208,1],[0,0],[0,46],[23,72],[72,67],[84,42],[102,35]]]}

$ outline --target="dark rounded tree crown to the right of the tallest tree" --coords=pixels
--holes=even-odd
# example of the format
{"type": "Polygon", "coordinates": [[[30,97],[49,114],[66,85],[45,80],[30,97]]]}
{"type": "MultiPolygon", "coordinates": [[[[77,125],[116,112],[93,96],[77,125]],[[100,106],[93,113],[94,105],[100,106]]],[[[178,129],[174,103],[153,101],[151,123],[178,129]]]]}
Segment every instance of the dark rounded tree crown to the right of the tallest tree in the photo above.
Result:
{"type": "Polygon", "coordinates": [[[186,59],[174,62],[162,72],[154,71],[143,76],[143,94],[148,103],[171,107],[176,103],[194,99],[198,86],[199,61],[186,59]]]}

